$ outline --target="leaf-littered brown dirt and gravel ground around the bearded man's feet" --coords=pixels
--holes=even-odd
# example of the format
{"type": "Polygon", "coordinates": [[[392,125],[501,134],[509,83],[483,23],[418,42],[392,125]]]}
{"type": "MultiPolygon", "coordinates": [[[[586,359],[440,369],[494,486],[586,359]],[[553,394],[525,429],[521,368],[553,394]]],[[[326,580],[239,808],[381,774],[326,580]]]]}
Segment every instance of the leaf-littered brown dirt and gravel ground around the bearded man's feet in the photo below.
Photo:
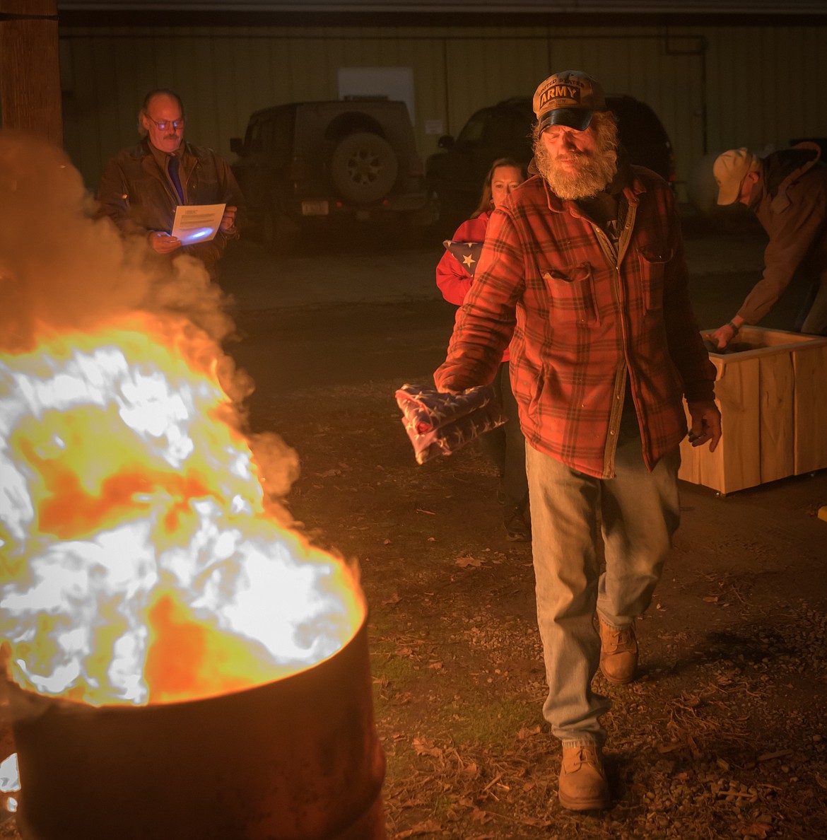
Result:
{"type": "Polygon", "coordinates": [[[641,680],[605,683],[615,805],[556,801],[531,553],[475,449],[417,467],[395,381],[264,396],[302,453],[292,509],[359,559],[391,837],[824,837],[827,475],[720,498],[683,525],[639,624],[641,680]],[[311,413],[306,406],[315,406],[311,413]]]}

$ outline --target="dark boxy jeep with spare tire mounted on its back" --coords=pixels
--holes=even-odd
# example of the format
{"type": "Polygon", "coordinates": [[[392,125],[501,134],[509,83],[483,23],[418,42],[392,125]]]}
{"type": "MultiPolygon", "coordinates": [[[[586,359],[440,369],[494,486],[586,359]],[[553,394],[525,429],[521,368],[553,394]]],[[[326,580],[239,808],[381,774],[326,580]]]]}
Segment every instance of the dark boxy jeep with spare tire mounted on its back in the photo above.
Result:
{"type": "Polygon", "coordinates": [[[424,227],[435,218],[405,102],[264,108],[230,148],[248,222],[272,250],[289,250],[302,228],[347,219],[424,227]]]}

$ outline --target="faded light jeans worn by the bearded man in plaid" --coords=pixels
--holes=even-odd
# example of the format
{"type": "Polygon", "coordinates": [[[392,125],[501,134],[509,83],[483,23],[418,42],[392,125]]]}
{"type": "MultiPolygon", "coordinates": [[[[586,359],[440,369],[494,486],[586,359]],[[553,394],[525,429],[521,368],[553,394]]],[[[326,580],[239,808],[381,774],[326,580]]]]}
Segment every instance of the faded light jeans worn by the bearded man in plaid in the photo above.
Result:
{"type": "Polygon", "coordinates": [[[605,741],[610,701],[592,691],[600,658],[595,609],[610,627],[652,601],[678,528],[678,449],[650,473],[634,412],[624,412],[615,478],[597,479],[526,444],[537,623],[546,664],[543,716],[564,747],[605,741]],[[605,572],[599,569],[602,532],[605,572]]]}

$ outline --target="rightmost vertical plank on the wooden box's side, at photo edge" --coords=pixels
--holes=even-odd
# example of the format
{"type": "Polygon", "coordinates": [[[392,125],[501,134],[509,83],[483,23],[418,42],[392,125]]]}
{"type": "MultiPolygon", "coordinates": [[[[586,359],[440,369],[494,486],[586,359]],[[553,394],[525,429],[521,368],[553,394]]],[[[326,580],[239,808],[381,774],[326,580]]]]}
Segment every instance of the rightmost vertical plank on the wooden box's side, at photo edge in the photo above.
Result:
{"type": "Polygon", "coordinates": [[[795,475],[827,467],[827,342],[793,353],[795,475]]]}

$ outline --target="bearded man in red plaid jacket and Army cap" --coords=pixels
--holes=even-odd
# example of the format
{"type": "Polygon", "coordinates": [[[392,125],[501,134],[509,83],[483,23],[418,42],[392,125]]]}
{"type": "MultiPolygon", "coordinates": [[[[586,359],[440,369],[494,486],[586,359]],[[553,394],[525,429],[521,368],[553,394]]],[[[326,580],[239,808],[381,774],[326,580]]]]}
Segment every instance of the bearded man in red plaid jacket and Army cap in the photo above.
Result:
{"type": "Polygon", "coordinates": [[[715,449],[720,413],[672,190],[619,159],[615,118],[589,74],[549,76],[533,104],[538,174],[491,213],[434,379],[440,391],[487,384],[510,347],[543,715],[563,748],[560,803],[588,811],[610,805],[599,722],[610,702],[592,680],[598,669],[616,685],[636,677],[634,623],[680,517],[683,400],[694,445],[715,449]]]}

